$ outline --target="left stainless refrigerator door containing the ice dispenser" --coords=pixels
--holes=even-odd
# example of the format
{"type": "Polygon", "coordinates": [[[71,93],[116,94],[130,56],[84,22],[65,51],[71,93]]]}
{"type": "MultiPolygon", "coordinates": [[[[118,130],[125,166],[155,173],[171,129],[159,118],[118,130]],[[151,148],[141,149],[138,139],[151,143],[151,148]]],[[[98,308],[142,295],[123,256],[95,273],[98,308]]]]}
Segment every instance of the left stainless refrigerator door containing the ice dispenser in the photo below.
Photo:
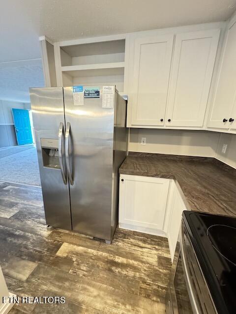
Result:
{"type": "Polygon", "coordinates": [[[30,88],[30,99],[46,222],[71,230],[63,89],[30,88]]]}

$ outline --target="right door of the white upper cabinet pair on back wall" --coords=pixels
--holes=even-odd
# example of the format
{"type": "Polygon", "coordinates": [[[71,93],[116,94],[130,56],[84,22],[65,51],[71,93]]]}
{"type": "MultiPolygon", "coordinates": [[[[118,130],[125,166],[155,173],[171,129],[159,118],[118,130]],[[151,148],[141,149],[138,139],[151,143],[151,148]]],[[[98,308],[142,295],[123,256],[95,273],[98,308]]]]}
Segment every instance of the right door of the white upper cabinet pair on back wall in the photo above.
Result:
{"type": "Polygon", "coordinates": [[[220,29],[176,35],[167,127],[203,127],[220,29]]]}

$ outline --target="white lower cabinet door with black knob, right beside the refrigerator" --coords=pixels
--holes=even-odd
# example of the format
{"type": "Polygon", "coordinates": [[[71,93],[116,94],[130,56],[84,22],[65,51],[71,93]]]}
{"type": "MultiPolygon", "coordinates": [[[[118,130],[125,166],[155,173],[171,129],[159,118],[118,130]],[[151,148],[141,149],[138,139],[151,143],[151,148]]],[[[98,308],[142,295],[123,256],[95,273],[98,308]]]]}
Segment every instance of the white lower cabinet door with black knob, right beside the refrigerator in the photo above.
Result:
{"type": "Polygon", "coordinates": [[[160,235],[169,183],[169,179],[120,175],[119,227],[160,235]]]}

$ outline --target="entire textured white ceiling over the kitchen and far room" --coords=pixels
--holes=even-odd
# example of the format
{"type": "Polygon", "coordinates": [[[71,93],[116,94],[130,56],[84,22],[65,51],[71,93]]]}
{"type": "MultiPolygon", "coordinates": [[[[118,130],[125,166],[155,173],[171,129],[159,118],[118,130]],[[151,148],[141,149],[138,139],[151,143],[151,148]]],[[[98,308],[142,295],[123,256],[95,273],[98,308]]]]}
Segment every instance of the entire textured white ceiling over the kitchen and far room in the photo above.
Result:
{"type": "MultiPolygon", "coordinates": [[[[2,0],[0,62],[40,58],[42,35],[61,41],[225,21],[235,5],[236,0],[2,0]]],[[[0,99],[23,101],[26,87],[42,84],[40,67],[26,62],[8,71],[0,63],[0,99]]]]}

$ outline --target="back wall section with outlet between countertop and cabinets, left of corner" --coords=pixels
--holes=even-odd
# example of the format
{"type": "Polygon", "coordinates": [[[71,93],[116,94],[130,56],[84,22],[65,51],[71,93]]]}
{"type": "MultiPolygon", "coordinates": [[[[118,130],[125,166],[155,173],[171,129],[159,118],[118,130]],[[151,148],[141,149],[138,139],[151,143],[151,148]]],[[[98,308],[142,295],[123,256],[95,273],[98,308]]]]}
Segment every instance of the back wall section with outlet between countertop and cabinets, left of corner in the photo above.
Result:
{"type": "Polygon", "coordinates": [[[220,133],[161,129],[130,129],[129,151],[214,157],[220,133]],[[146,145],[141,138],[146,137],[146,145]]]}

